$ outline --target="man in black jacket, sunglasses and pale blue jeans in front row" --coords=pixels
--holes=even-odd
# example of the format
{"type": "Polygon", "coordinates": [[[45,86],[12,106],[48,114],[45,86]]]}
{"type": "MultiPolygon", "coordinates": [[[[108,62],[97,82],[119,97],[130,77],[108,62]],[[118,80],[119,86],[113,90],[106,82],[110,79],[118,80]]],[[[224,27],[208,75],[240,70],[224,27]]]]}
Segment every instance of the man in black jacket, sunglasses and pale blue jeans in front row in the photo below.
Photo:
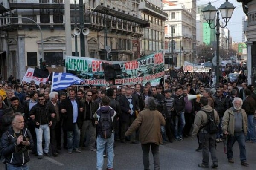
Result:
{"type": "Polygon", "coordinates": [[[44,104],[45,98],[44,94],[38,95],[38,104],[32,107],[30,110],[30,117],[34,120],[35,123],[35,133],[37,139],[37,151],[38,159],[43,158],[43,134],[44,134],[44,154],[46,156],[51,156],[49,154],[49,145],[50,145],[50,126],[52,126],[51,115],[49,109],[47,109],[44,104]]]}

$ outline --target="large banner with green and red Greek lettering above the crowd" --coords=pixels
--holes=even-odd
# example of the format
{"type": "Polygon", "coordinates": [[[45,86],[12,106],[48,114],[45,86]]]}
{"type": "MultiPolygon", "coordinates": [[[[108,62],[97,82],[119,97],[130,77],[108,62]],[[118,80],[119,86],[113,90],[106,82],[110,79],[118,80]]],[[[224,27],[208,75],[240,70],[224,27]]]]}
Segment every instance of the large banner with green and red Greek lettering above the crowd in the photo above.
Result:
{"type": "Polygon", "coordinates": [[[157,78],[162,78],[164,72],[163,51],[157,51],[150,55],[132,61],[105,61],[89,57],[66,56],[66,72],[81,78],[81,86],[106,86],[129,85],[145,83],[157,78]],[[119,64],[122,74],[116,79],[107,82],[104,78],[102,61],[105,63],[119,64]]]}

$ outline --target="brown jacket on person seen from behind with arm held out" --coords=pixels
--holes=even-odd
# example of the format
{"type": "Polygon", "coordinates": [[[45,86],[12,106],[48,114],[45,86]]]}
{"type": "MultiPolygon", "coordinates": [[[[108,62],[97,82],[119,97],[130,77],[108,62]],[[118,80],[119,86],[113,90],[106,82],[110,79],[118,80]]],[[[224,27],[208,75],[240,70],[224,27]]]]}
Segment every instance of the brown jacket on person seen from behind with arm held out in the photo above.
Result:
{"type": "Polygon", "coordinates": [[[162,143],[161,125],[165,125],[162,113],[157,110],[144,109],[139,113],[135,121],[131,124],[125,136],[131,135],[138,127],[140,127],[140,143],[162,143]]]}

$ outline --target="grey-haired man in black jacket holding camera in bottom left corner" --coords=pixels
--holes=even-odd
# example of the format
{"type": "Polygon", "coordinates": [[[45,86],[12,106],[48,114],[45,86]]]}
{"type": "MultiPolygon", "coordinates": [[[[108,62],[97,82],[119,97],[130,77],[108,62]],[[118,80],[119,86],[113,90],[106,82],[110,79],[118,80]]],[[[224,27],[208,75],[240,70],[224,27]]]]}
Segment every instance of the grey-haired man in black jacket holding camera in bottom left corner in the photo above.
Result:
{"type": "Polygon", "coordinates": [[[3,133],[0,150],[6,163],[6,170],[28,170],[29,149],[34,147],[32,136],[24,129],[24,118],[20,113],[12,117],[12,126],[3,133]]]}

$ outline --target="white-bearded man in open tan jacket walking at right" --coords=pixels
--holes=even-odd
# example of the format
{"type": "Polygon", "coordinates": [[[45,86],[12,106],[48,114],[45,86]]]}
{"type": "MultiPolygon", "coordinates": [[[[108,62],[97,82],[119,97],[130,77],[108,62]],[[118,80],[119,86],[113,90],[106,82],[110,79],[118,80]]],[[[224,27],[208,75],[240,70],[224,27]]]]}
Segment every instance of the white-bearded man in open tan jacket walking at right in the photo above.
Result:
{"type": "Polygon", "coordinates": [[[228,162],[234,163],[232,147],[237,141],[241,165],[247,167],[249,164],[246,162],[245,136],[247,135],[248,124],[246,112],[244,109],[241,109],[242,104],[241,98],[234,98],[233,107],[227,109],[222,118],[222,132],[227,135],[228,162]]]}

